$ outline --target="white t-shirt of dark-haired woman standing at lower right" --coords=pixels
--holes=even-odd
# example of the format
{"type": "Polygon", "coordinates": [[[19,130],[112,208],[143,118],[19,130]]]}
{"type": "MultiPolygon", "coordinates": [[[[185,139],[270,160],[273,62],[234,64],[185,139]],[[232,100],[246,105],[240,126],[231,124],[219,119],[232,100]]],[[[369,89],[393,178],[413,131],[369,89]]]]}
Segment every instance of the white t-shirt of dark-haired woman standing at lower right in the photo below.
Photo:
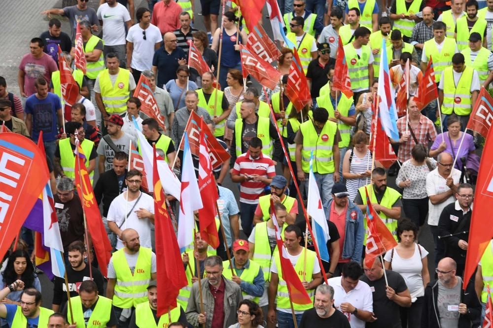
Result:
{"type": "Polygon", "coordinates": [[[421,275],[421,271],[423,270],[422,259],[427,255],[428,251],[424,249],[423,246],[415,243],[413,256],[409,259],[401,258],[395,248],[393,249],[393,257],[392,251],[387,252],[384,257],[385,261],[392,262],[392,271],[400,273],[406,281],[413,302],[416,301],[416,298],[424,296],[423,276],[421,275]],[[421,248],[421,256],[418,247],[421,248]]]}

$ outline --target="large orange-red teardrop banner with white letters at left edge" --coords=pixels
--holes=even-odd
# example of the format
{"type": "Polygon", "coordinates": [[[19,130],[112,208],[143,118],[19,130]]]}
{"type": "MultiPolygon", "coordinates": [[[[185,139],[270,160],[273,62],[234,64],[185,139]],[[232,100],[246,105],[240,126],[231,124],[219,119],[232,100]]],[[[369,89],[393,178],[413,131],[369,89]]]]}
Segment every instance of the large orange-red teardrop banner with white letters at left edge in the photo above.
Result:
{"type": "Polygon", "coordinates": [[[50,179],[46,156],[30,139],[0,134],[0,257],[3,257],[50,179]]]}

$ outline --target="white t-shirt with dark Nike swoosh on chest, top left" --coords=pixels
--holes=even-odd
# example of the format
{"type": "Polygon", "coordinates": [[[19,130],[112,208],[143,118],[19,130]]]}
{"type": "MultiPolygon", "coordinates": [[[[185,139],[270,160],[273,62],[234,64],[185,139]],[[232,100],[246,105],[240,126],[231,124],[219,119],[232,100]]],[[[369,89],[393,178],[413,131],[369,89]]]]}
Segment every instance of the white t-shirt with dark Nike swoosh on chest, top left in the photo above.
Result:
{"type": "Polygon", "coordinates": [[[106,2],[98,8],[98,19],[103,21],[103,40],[106,46],[125,44],[125,22],[131,20],[125,6],[116,3],[110,7],[106,2]]]}

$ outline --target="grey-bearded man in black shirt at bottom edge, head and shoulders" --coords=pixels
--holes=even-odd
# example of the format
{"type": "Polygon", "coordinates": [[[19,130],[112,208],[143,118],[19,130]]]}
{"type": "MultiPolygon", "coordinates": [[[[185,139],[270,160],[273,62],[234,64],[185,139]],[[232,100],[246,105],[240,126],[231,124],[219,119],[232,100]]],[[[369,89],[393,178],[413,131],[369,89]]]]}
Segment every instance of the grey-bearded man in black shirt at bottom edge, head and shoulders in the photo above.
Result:
{"type": "Polygon", "coordinates": [[[334,288],[320,285],[315,292],[314,307],[303,313],[299,328],[350,328],[348,318],[334,307],[334,288]]]}

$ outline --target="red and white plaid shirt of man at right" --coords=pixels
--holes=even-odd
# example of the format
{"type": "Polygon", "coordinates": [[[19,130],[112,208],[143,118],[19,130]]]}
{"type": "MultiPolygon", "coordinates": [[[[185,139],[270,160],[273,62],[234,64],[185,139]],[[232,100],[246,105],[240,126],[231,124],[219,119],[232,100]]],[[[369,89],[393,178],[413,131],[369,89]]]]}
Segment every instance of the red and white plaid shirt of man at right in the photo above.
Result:
{"type": "MultiPolygon", "coordinates": [[[[400,119],[397,119],[397,129],[399,129],[399,134],[402,135],[403,132],[406,131],[406,117],[403,116],[400,119]]],[[[410,124],[411,127],[413,126],[410,124]]],[[[426,149],[428,149],[428,143],[430,141],[434,141],[436,138],[436,130],[433,122],[425,117],[424,115],[420,115],[420,122],[418,124],[418,128],[413,127],[414,135],[416,139],[418,139],[418,143],[423,144],[426,149]]],[[[414,142],[414,138],[411,135],[411,129],[409,129],[409,140],[403,144],[399,145],[399,151],[397,153],[397,159],[402,163],[411,158],[411,150],[416,145],[414,142]]]]}

